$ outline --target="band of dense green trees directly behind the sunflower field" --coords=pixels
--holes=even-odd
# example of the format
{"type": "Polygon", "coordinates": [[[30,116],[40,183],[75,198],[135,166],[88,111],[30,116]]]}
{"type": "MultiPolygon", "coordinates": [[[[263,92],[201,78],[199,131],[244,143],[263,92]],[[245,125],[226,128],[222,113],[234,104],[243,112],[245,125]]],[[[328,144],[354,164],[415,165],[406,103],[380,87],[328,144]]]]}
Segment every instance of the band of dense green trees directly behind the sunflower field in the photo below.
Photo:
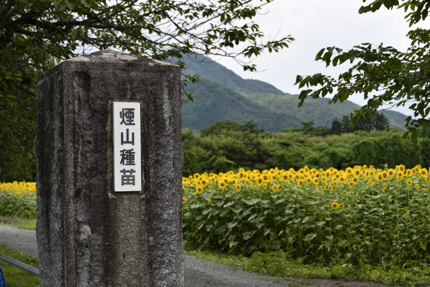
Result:
{"type": "MultiPolygon", "coordinates": [[[[317,169],[344,169],[363,164],[430,166],[430,139],[423,137],[414,145],[410,137],[403,139],[402,132],[396,129],[377,129],[375,121],[371,130],[348,130],[340,135],[327,127],[313,127],[311,121],[302,123],[301,129],[285,129],[280,133],[256,129],[255,124],[249,129],[249,123],[219,121],[202,129],[199,136],[183,130],[183,176],[205,171],[220,173],[240,167],[250,170],[292,167],[297,170],[305,165],[317,169]]],[[[350,128],[349,117],[338,123],[341,129],[343,125],[350,128]]]]}

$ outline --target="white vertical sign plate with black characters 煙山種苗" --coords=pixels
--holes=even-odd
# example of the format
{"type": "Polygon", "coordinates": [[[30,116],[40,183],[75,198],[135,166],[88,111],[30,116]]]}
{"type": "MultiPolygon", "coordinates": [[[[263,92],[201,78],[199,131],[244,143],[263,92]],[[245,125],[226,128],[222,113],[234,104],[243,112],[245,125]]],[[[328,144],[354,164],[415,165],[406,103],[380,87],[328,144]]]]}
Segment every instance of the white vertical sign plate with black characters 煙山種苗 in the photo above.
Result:
{"type": "Polygon", "coordinates": [[[114,102],[114,189],[141,191],[140,103],[114,102]]]}

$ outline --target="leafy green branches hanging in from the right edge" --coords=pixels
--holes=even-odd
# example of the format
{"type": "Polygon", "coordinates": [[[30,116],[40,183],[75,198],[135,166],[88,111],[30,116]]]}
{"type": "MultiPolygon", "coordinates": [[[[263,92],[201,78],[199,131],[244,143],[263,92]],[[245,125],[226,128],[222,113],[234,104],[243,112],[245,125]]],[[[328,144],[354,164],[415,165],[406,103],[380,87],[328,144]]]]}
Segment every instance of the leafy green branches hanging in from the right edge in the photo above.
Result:
{"type": "MultiPolygon", "coordinates": [[[[366,0],[363,0],[366,2],[366,0]]],[[[369,1],[370,2],[370,1],[369,1]]],[[[409,26],[427,18],[430,2],[427,0],[374,0],[359,9],[359,13],[376,12],[378,9],[404,9],[409,26]]],[[[367,104],[355,111],[351,120],[356,123],[365,117],[373,117],[384,104],[392,107],[408,105],[414,117],[406,119],[407,132],[417,142],[418,128],[429,123],[430,113],[430,30],[417,28],[408,32],[411,44],[405,52],[383,43],[362,43],[344,51],[338,47],[321,49],[315,60],[326,66],[350,62],[352,66],[337,78],[324,74],[300,76],[296,84],[306,86],[299,96],[300,105],[307,96],[318,98],[334,93],[330,103],[344,102],[354,93],[364,94],[367,104]],[[312,88],[314,87],[314,88],[312,88]]]]}

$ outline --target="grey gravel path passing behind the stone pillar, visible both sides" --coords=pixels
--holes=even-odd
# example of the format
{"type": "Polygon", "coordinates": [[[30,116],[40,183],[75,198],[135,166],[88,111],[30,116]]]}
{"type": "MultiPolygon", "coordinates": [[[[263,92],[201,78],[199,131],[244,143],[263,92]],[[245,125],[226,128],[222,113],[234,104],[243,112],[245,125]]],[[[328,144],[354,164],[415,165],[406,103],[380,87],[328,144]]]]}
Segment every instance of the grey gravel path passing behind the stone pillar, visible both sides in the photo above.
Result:
{"type": "MultiPolygon", "coordinates": [[[[0,244],[37,256],[36,231],[0,225],[0,244]]],[[[239,268],[185,256],[185,287],[283,287],[239,268]]]]}

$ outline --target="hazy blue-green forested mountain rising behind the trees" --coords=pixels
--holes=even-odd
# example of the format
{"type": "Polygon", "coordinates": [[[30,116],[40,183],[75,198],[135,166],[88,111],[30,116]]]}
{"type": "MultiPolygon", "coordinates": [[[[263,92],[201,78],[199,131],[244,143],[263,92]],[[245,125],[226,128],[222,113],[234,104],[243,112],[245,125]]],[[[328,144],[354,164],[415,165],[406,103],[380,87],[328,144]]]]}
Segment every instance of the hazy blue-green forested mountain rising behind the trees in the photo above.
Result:
{"type": "MultiPolygon", "coordinates": [[[[301,122],[313,120],[316,126],[330,127],[337,117],[359,108],[350,101],[328,105],[329,99],[310,99],[298,108],[298,96],[283,93],[274,86],[245,80],[212,60],[198,55],[184,57],[185,74],[199,74],[199,83],[189,83],[187,93],[194,102],[184,103],[182,127],[197,131],[218,120],[244,123],[253,120],[258,127],[271,132],[300,127],[301,122]]],[[[288,79],[286,79],[288,80],[288,79]]],[[[392,127],[402,129],[406,116],[395,111],[382,111],[392,127]]]]}

